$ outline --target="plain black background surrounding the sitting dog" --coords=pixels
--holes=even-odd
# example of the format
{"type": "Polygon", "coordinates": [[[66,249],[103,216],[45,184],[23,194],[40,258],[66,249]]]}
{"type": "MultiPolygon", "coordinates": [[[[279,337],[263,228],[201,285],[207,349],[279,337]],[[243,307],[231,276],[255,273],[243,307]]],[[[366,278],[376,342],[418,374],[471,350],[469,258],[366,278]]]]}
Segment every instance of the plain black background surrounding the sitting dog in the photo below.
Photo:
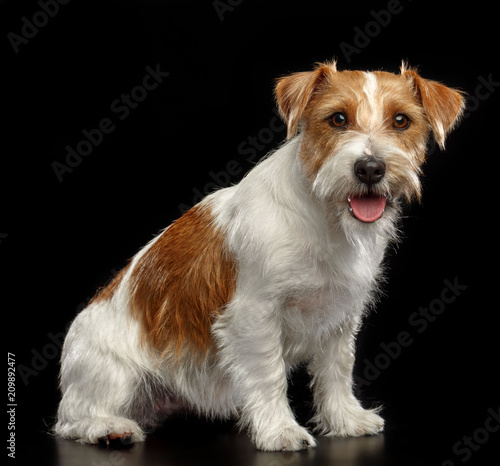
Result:
{"type": "MultiPolygon", "coordinates": [[[[210,191],[210,172],[220,174],[234,160],[241,171],[219,180],[237,182],[284,138],[283,131],[274,131],[272,140],[261,138],[252,161],[238,151],[249,138],[259,139],[259,132],[269,135],[262,130],[274,118],[276,77],[336,56],[340,69],[394,72],[405,59],[424,77],[470,96],[467,118],[450,135],[446,151],[431,147],[422,202],[405,210],[404,240],[387,257],[386,294],[359,337],[356,375],[366,376],[367,361],[384,366],[358,391],[366,405],[385,407],[384,459],[377,458],[388,462],[368,453],[366,463],[342,463],[404,458],[391,464],[462,464],[466,454],[453,447],[483,428],[488,409],[498,412],[500,405],[500,91],[498,84],[484,85],[500,81],[496,12],[457,2],[438,8],[401,0],[387,25],[368,26],[372,37],[363,42],[355,28],[366,30],[374,21],[370,11],[386,10],[391,2],[221,3],[234,6],[218,14],[212,1],[72,0],[59,5],[17,53],[9,33],[22,34],[23,17],[33,20],[41,6],[0,4],[1,297],[7,351],[18,367],[17,461],[47,458],[57,464],[44,431],[59,397],[58,341],[77,311],[182,208],[193,205],[198,192],[207,186],[210,191]],[[346,56],[345,44],[357,44],[357,52],[346,56]],[[120,119],[112,103],[142,83],[147,66],[169,75],[120,119]],[[82,131],[97,128],[103,118],[113,121],[114,130],[58,180],[53,162],[66,163],[65,147],[75,148],[82,131]],[[440,299],[445,280],[467,289],[418,332],[411,316],[440,299]],[[403,331],[412,343],[384,365],[381,344],[391,346],[403,331]]],[[[290,396],[306,420],[304,373],[293,382],[290,396]]],[[[226,427],[183,418],[172,429],[195,448],[197,434],[226,427]]],[[[171,435],[165,429],[143,452],[171,435]]],[[[236,438],[253,452],[244,435],[236,438]]],[[[492,464],[498,441],[498,433],[489,434],[467,464],[492,464]]],[[[356,450],[360,444],[349,445],[356,450]]],[[[213,452],[205,447],[208,464],[213,452]]],[[[93,447],[78,448],[78,464],[87,464],[93,447]]],[[[299,464],[295,460],[308,458],[276,461],[299,464]]]]}

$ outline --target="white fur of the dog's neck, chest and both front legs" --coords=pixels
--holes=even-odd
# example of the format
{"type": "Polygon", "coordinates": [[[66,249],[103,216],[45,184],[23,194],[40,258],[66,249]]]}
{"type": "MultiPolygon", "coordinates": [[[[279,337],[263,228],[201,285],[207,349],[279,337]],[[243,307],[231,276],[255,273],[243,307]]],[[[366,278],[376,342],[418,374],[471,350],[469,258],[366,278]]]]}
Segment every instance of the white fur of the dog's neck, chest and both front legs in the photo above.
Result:
{"type": "Polygon", "coordinates": [[[304,361],[314,361],[313,385],[321,387],[315,421],[322,431],[363,435],[383,426],[354,398],[347,340],[373,298],[388,238],[380,225],[359,225],[365,231],[354,242],[339,228],[301,171],[299,145],[300,137],[211,198],[239,264],[236,296],[214,333],[242,396],[241,423],[264,450],[314,444],[286,399],[287,373],[304,361]],[[337,340],[343,331],[348,354],[337,340]]]}

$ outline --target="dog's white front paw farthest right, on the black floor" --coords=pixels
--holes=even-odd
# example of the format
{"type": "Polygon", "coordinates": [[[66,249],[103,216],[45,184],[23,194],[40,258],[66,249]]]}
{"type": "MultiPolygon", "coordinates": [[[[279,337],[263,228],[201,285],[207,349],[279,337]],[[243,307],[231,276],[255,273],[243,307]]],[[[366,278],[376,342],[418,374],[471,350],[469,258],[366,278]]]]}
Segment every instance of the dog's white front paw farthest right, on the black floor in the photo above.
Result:
{"type": "Polygon", "coordinates": [[[318,431],[323,435],[336,437],[376,435],[383,430],[384,420],[377,414],[377,411],[359,406],[337,411],[326,425],[324,422],[318,424],[318,431]]]}

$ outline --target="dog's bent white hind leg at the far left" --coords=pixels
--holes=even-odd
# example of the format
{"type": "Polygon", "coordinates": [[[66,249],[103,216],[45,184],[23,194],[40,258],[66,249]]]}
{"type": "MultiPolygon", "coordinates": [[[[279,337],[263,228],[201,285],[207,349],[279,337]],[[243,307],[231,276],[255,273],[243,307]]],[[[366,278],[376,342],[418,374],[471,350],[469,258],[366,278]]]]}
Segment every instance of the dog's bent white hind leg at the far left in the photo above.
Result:
{"type": "Polygon", "coordinates": [[[139,361],[138,325],[117,319],[117,314],[109,301],[92,303],[71,325],[63,348],[63,396],[54,427],[63,438],[106,444],[145,438],[141,420],[132,414],[139,401],[138,386],[146,379],[139,361]]]}

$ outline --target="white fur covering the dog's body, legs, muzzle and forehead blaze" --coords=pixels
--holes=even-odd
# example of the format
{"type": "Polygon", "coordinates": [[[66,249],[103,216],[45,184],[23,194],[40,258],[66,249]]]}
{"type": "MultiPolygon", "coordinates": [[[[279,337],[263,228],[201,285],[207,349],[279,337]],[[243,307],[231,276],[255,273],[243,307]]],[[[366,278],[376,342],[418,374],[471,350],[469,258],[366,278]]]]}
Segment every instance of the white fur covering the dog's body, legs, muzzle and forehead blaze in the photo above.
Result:
{"type": "Polygon", "coordinates": [[[383,428],[376,410],[363,409],[353,394],[355,337],[377,292],[384,251],[396,236],[397,199],[410,197],[420,184],[414,154],[377,133],[383,118],[376,108],[377,79],[365,76],[360,99],[372,115],[367,128],[349,133],[315,179],[304,174],[299,134],[238,185],[202,201],[238,271],[234,296],[213,324],[216,349],[205,360],[178,360],[169,354],[159,359],[140,345],[140,324],[130,312],[130,274],[153,240],[134,258],[114,296],[90,304],[70,328],[59,435],[95,443],[129,432],[141,441],[144,426],[182,406],[239,417],[262,450],[314,446],[286,396],[287,376],[300,363],[311,374],[313,422],[320,433],[363,435],[383,428]],[[367,155],[383,158],[388,167],[373,189],[389,202],[371,224],[353,218],[347,204],[350,193],[365,189],[353,165],[367,155]]]}

